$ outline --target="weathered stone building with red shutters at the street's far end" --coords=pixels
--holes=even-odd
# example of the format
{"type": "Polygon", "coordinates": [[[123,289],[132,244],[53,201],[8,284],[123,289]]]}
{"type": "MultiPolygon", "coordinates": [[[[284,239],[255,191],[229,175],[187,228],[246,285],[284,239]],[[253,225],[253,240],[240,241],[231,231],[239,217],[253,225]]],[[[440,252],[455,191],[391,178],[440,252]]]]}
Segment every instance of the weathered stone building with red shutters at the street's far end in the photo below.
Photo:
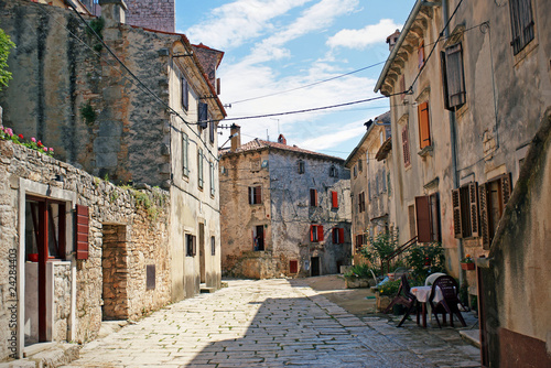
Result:
{"type": "Polygon", "coordinates": [[[253,279],[339,272],[352,256],[349,172],[344,160],[278,142],[220,156],[223,272],[253,279]]]}

